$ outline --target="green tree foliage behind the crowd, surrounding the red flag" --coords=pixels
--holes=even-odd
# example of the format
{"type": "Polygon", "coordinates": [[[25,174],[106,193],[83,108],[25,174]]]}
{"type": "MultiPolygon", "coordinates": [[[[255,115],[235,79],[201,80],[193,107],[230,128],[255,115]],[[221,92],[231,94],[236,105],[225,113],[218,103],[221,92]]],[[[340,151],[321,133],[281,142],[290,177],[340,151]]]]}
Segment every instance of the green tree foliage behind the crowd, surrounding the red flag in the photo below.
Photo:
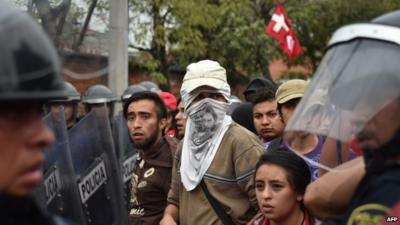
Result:
{"type": "Polygon", "coordinates": [[[269,75],[268,62],[282,58],[291,65],[316,68],[339,27],[400,8],[398,0],[287,0],[284,7],[304,48],[288,61],[279,43],[264,29],[275,0],[130,0],[135,23],[133,42],[146,46],[165,72],[170,64],[186,67],[209,58],[219,61],[233,83],[269,75]],[[147,15],[143,19],[143,15],[147,15]],[[150,41],[148,41],[150,39],[150,41]],[[168,65],[163,65],[168,64],[168,65]]]}

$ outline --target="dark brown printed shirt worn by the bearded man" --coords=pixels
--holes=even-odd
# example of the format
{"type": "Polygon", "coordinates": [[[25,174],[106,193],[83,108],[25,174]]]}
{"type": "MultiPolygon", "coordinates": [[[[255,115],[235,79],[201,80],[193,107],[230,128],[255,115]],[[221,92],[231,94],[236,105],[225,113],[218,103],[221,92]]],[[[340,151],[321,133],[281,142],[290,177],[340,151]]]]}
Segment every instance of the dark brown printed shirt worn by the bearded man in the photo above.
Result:
{"type": "Polygon", "coordinates": [[[158,225],[167,204],[177,141],[164,136],[145,152],[139,151],[132,177],[130,225],[158,225]]]}

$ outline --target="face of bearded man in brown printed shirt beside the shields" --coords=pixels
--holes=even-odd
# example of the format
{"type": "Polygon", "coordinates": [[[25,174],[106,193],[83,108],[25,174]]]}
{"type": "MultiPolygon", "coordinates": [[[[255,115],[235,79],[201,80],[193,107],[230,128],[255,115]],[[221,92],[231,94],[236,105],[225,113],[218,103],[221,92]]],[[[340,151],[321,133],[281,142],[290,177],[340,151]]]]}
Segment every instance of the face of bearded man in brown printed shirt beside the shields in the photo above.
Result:
{"type": "Polygon", "coordinates": [[[138,148],[146,150],[161,138],[166,119],[158,119],[155,103],[143,99],[129,104],[127,125],[133,143],[138,148]]]}

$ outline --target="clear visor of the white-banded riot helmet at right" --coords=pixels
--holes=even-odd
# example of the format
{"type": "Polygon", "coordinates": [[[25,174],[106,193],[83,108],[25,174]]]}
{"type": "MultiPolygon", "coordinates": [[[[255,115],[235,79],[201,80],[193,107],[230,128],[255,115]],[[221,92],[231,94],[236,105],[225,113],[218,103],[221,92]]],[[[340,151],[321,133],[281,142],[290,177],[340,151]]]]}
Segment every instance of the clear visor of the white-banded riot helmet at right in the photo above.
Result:
{"type": "Polygon", "coordinates": [[[394,119],[393,124],[371,128],[377,120],[400,113],[399,57],[398,45],[376,40],[330,48],[285,129],[286,145],[324,170],[362,155],[362,149],[379,148],[384,144],[382,131],[398,126],[394,119]],[[304,146],[305,140],[323,140],[318,160],[311,159],[312,148],[304,146]]]}

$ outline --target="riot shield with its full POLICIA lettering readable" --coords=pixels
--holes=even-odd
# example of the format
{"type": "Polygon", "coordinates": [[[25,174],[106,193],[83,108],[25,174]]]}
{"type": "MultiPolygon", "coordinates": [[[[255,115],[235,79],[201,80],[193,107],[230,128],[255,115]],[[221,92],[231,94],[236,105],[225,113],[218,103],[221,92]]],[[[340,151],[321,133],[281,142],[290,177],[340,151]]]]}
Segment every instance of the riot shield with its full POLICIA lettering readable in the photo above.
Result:
{"type": "Polygon", "coordinates": [[[69,130],[69,138],[87,224],[126,225],[122,178],[105,105],[92,108],[69,130]]]}

